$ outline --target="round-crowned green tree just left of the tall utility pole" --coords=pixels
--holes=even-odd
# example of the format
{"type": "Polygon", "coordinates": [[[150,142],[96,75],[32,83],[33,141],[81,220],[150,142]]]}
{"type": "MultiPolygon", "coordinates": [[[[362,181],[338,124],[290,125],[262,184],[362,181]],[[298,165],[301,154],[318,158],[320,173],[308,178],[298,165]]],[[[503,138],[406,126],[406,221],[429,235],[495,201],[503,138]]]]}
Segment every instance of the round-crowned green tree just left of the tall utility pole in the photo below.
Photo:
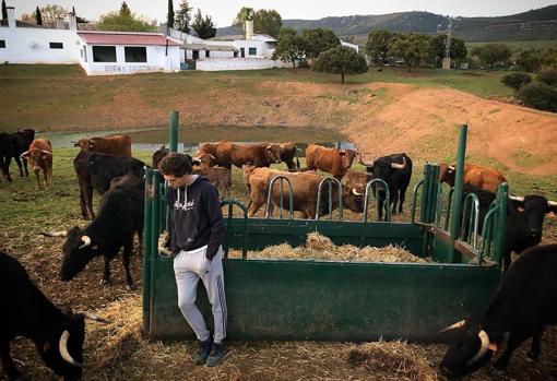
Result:
{"type": "Polygon", "coordinates": [[[402,33],[389,43],[389,55],[396,60],[403,60],[408,71],[419,66],[431,56],[430,37],[414,33],[402,33]]]}

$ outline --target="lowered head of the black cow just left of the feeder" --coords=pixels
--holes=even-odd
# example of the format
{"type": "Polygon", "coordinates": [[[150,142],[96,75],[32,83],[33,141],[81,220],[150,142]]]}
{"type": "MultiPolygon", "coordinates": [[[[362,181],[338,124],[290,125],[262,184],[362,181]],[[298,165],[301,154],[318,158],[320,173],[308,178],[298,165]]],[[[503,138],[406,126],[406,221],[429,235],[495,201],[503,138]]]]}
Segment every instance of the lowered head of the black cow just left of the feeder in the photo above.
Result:
{"type": "Polygon", "coordinates": [[[93,259],[98,243],[93,242],[93,239],[79,227],[71,228],[66,236],[68,238],[62,246],[63,259],[59,276],[61,281],[71,281],[93,259]]]}

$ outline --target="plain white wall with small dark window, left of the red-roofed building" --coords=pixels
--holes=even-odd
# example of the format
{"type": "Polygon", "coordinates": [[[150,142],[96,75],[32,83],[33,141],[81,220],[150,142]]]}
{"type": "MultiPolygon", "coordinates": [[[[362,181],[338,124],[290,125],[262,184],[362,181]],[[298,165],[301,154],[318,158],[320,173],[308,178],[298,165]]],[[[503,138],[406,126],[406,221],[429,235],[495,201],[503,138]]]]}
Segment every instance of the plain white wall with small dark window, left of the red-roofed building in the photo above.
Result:
{"type": "Polygon", "coordinates": [[[78,63],[81,38],[75,31],[35,27],[0,27],[0,62],[78,63]],[[50,43],[62,43],[63,49],[50,49],[50,43]]]}

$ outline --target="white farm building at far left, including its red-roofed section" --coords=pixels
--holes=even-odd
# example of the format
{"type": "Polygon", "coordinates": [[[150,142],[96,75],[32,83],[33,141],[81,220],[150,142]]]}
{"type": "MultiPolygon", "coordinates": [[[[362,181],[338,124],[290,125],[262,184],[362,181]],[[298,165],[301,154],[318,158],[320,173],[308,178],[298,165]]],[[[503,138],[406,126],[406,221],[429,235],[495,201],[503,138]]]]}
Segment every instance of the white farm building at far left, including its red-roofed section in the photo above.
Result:
{"type": "Polygon", "coordinates": [[[123,74],[180,69],[181,41],[159,33],[81,32],[73,13],[68,28],[28,25],[8,8],[0,26],[0,62],[79,63],[90,75],[123,74]]]}

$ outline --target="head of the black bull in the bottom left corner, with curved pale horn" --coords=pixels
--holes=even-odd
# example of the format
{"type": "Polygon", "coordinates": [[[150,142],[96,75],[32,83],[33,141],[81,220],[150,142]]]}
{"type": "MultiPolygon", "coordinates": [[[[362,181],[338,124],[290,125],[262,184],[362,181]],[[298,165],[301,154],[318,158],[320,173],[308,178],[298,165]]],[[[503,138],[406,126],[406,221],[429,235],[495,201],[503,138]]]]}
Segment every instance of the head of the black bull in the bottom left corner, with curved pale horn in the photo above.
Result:
{"type": "Polygon", "coordinates": [[[45,364],[63,380],[79,380],[83,367],[85,317],[66,312],[62,322],[47,333],[37,349],[45,364]]]}

